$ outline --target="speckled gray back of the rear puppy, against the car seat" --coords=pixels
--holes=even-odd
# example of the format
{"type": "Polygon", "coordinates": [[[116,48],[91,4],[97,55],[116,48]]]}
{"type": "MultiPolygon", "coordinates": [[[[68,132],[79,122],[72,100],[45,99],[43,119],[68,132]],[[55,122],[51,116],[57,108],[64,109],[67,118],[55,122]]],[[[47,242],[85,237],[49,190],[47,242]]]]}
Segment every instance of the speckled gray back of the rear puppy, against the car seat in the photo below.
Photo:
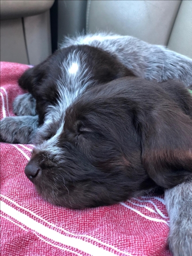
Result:
{"type": "Polygon", "coordinates": [[[192,83],[192,60],[162,45],[149,44],[132,36],[102,33],[66,38],[61,47],[78,44],[99,47],[115,55],[140,77],[158,82],[179,79],[186,86],[192,83]]]}

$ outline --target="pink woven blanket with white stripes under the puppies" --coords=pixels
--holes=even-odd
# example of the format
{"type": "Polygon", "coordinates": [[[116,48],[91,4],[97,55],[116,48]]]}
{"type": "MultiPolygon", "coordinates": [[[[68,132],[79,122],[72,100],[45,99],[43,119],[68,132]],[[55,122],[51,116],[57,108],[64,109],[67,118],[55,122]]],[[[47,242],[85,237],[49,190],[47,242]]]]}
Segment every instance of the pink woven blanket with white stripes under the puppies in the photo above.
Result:
{"type": "MultiPolygon", "coordinates": [[[[17,80],[29,66],[1,62],[1,118],[14,116],[23,93],[17,80]]],[[[1,143],[2,255],[171,255],[162,197],[69,210],[45,202],[25,176],[33,145],[1,143]]]]}

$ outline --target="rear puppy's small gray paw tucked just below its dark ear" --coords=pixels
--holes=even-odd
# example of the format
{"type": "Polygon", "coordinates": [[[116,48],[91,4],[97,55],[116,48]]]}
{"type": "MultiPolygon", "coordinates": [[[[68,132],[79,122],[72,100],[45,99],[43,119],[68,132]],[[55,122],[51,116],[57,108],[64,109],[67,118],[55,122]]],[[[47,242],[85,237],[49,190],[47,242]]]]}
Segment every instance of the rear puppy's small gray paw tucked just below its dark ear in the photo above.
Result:
{"type": "Polygon", "coordinates": [[[13,113],[17,116],[35,116],[36,100],[30,93],[19,95],[13,101],[13,113]]]}

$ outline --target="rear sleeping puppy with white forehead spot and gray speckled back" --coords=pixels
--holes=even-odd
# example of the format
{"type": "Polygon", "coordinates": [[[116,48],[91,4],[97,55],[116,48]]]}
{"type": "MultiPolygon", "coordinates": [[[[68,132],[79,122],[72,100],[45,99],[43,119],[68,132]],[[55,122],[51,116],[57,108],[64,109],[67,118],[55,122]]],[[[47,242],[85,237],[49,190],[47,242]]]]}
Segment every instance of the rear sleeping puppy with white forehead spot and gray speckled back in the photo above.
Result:
{"type": "Polygon", "coordinates": [[[177,79],[189,86],[192,60],[131,36],[90,34],[66,38],[61,49],[19,79],[19,85],[29,93],[15,99],[13,110],[17,117],[1,121],[1,141],[43,142],[50,137],[46,135],[47,123],[57,122],[51,115],[45,118],[50,107],[59,105],[58,115],[65,115],[66,108],[87,87],[124,76],[158,82],[177,79]],[[36,138],[39,132],[44,137],[36,138]]]}

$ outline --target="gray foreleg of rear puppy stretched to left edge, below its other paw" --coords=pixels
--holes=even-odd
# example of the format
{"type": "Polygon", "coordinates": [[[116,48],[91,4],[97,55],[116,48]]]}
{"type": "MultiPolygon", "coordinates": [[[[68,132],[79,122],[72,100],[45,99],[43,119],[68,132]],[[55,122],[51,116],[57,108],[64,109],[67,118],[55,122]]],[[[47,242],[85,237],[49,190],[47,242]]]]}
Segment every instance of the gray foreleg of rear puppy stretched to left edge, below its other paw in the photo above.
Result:
{"type": "Polygon", "coordinates": [[[8,143],[33,143],[38,127],[38,116],[12,116],[0,121],[0,141],[8,143]]]}

